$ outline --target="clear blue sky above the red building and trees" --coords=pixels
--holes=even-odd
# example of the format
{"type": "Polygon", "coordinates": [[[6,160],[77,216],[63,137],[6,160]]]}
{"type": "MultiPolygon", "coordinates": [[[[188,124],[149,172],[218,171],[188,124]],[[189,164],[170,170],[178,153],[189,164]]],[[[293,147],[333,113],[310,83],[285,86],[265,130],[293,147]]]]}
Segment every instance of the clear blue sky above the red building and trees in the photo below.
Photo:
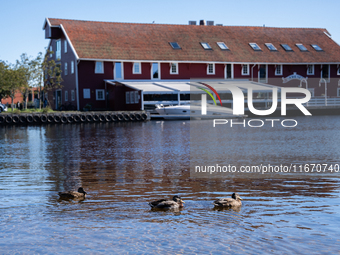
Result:
{"type": "Polygon", "coordinates": [[[15,63],[22,53],[37,56],[48,40],[45,17],[160,24],[215,24],[326,28],[340,43],[339,0],[0,0],[0,60],[15,63]]]}

